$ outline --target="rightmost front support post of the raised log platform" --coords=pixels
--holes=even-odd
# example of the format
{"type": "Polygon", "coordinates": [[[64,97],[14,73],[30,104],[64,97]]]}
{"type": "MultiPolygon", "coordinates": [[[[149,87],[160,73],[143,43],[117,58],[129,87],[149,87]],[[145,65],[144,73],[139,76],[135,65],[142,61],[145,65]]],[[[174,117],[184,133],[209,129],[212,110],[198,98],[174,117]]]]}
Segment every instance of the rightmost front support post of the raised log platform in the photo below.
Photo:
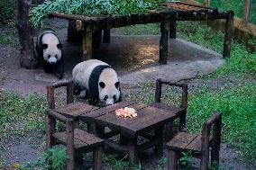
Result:
{"type": "Polygon", "coordinates": [[[228,17],[226,18],[225,23],[225,34],[224,34],[224,58],[230,57],[231,50],[231,41],[233,35],[233,11],[228,13],[228,17]]]}

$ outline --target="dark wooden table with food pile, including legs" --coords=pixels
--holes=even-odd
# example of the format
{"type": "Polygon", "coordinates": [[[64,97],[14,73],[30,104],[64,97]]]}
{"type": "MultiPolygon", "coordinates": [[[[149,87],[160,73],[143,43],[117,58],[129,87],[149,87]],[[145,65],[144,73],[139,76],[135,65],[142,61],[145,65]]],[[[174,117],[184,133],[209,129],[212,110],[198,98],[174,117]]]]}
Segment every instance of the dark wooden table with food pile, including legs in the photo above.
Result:
{"type": "Polygon", "coordinates": [[[79,119],[86,122],[95,122],[96,133],[100,138],[105,139],[105,144],[116,150],[128,152],[130,162],[134,164],[138,162],[138,152],[146,148],[155,146],[155,151],[162,154],[163,126],[166,122],[177,118],[179,112],[183,112],[183,109],[177,107],[166,110],[142,103],[121,102],[81,114],[79,119]],[[126,106],[133,107],[138,116],[132,119],[117,117],[115,110],[126,106]],[[105,127],[108,127],[111,131],[105,133],[105,127]],[[147,134],[150,130],[154,130],[153,136],[147,134]],[[109,139],[116,134],[120,134],[119,143],[109,139]],[[149,139],[149,141],[138,145],[138,136],[149,139]]]}

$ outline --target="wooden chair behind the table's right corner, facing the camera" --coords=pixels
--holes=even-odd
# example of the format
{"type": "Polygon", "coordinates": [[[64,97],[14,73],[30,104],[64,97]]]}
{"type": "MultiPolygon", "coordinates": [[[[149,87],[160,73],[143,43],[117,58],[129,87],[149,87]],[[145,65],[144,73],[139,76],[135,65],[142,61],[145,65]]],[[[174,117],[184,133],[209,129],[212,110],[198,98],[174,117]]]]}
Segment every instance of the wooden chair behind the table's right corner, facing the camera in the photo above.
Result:
{"type": "MultiPolygon", "coordinates": [[[[178,86],[182,89],[182,97],[181,97],[181,103],[180,108],[183,108],[181,112],[178,112],[177,117],[179,119],[179,126],[178,130],[182,131],[184,130],[186,126],[186,115],[187,115],[187,85],[186,84],[178,84],[178,83],[172,83],[167,80],[163,79],[157,79],[156,81],[156,89],[155,89],[155,102],[151,103],[151,106],[164,109],[164,110],[173,110],[175,106],[168,105],[166,103],[160,103],[161,102],[161,89],[162,85],[170,85],[170,86],[178,86]]],[[[171,130],[171,133],[172,130],[171,130]]]]}

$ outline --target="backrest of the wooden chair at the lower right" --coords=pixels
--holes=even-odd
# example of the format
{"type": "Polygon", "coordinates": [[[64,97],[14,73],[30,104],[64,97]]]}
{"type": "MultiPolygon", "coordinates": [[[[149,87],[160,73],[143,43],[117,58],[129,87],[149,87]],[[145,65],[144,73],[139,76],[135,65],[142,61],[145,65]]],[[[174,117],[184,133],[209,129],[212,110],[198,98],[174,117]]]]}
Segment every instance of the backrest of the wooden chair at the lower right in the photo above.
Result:
{"type": "Polygon", "coordinates": [[[215,112],[203,125],[201,146],[203,152],[209,148],[211,130],[213,145],[220,145],[222,130],[222,114],[220,112],[215,112]]]}

